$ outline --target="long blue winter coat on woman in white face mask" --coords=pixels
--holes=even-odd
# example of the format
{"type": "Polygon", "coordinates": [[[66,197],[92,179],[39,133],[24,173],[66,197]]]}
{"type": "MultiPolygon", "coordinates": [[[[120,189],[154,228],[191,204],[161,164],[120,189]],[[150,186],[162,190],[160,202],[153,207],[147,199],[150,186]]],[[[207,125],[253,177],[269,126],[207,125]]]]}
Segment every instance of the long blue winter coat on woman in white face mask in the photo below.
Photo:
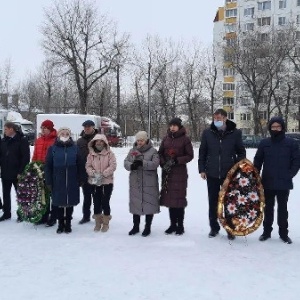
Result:
{"type": "Polygon", "coordinates": [[[66,207],[79,203],[79,184],[84,173],[84,163],[74,142],[56,140],[48,149],[45,163],[46,184],[51,186],[53,205],[66,207]]]}

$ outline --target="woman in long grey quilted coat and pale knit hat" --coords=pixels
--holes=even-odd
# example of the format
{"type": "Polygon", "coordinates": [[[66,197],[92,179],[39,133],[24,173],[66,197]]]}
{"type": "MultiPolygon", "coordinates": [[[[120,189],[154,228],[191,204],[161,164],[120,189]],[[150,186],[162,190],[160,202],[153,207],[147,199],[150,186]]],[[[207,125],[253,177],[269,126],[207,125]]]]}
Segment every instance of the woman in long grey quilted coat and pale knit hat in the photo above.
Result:
{"type": "Polygon", "coordinates": [[[148,139],[147,132],[139,131],[136,142],[124,160],[124,167],[129,175],[129,211],[133,215],[133,228],[129,235],[140,231],[140,219],[146,216],[142,236],[151,233],[153,215],[159,213],[159,188],[157,168],[159,155],[148,139]]]}

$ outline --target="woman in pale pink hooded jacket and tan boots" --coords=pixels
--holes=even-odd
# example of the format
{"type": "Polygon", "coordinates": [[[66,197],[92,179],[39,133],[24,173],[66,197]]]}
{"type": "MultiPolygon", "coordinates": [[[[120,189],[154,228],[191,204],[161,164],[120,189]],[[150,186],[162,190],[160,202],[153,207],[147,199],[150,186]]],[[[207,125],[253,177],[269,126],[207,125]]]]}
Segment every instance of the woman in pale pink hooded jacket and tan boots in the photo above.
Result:
{"type": "Polygon", "coordinates": [[[106,232],[111,220],[110,198],[113,191],[114,172],[117,168],[116,157],[111,151],[106,136],[96,134],[89,142],[86,161],[88,183],[94,200],[94,231],[106,232]]]}

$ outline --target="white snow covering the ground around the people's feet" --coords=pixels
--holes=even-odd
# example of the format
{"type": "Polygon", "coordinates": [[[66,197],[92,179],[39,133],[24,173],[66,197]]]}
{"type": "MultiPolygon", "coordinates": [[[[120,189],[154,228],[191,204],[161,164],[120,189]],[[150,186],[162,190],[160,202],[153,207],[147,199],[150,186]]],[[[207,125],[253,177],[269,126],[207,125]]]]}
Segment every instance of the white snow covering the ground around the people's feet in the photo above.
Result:
{"type": "MultiPolygon", "coordinates": [[[[73,232],[56,234],[13,219],[0,223],[0,295],[19,299],[255,299],[296,300],[300,293],[300,204],[297,184],[289,201],[292,245],[281,242],[274,223],[272,239],[259,242],[262,228],[229,242],[225,231],[209,239],[206,182],[197,171],[197,151],[189,167],[189,188],[183,236],[166,236],[167,208],[154,217],[149,237],[128,236],[128,148],[114,149],[118,160],[107,233],[93,232],[90,222],[73,232]]],[[[255,150],[248,150],[252,159],[255,150]]],[[[159,170],[160,173],[160,170],[159,170]]],[[[16,209],[16,202],[12,201],[16,209]]],[[[144,222],[144,221],[143,221],[144,222]]],[[[142,223],[143,223],[142,222],[142,223]]]]}

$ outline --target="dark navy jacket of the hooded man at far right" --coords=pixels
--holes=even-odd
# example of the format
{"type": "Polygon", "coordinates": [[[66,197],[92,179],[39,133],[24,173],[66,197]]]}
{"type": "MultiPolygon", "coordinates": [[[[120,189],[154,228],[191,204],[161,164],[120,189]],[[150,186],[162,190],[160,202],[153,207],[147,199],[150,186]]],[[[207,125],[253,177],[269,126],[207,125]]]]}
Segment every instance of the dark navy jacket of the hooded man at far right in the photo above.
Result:
{"type": "Polygon", "coordinates": [[[278,141],[263,139],[254,157],[254,166],[262,172],[262,184],[268,190],[293,189],[293,177],[300,168],[300,154],[296,141],[283,137],[278,141]]]}

